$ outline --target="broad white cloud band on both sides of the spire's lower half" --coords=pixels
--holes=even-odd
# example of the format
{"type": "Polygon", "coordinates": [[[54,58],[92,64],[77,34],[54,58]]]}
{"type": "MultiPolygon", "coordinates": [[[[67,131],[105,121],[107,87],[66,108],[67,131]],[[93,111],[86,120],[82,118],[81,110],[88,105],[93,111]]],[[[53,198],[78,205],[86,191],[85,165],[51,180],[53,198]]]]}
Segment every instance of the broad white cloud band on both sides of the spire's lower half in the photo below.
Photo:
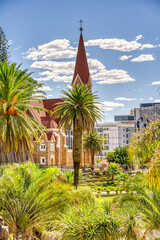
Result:
{"type": "MultiPolygon", "coordinates": [[[[114,84],[135,81],[127,71],[120,69],[106,70],[97,59],[88,59],[92,80],[98,84],[114,84]]],[[[45,69],[39,73],[38,81],[71,82],[73,79],[75,62],[35,61],[31,67],[45,69]],[[50,70],[50,71],[49,71],[50,70]]]]}

